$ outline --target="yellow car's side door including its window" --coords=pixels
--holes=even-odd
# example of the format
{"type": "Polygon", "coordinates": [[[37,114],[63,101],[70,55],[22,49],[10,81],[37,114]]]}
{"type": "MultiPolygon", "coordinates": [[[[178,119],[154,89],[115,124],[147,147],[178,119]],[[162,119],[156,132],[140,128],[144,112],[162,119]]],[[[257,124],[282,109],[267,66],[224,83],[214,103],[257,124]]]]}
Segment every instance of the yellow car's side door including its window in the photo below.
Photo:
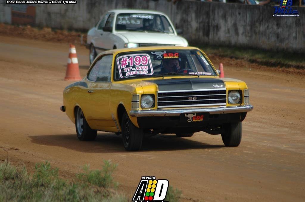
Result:
{"type": "Polygon", "coordinates": [[[96,62],[95,83],[90,89],[90,125],[95,129],[117,132],[117,127],[109,109],[109,91],[111,87],[111,66],[113,55],[104,55],[96,62]]]}

